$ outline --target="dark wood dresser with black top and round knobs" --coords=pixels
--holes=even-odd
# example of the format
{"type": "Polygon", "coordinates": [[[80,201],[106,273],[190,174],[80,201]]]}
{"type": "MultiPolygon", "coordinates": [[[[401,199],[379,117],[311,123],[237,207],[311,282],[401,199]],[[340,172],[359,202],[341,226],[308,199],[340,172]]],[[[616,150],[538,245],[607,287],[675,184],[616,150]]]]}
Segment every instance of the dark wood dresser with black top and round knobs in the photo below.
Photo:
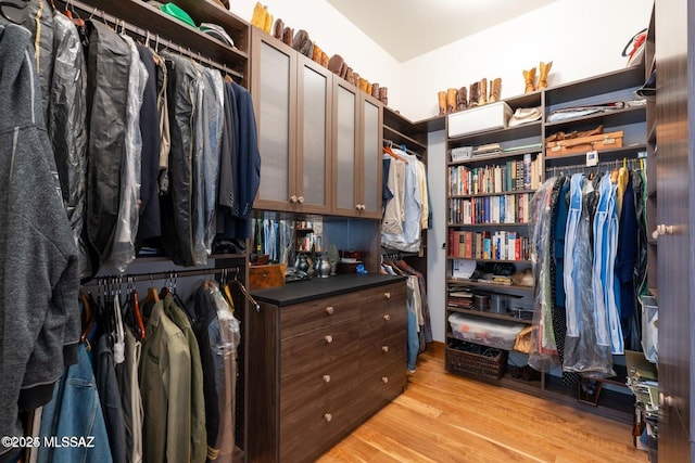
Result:
{"type": "Polygon", "coordinates": [[[252,293],[248,461],[313,461],[406,386],[406,283],[339,275],[252,293]]]}

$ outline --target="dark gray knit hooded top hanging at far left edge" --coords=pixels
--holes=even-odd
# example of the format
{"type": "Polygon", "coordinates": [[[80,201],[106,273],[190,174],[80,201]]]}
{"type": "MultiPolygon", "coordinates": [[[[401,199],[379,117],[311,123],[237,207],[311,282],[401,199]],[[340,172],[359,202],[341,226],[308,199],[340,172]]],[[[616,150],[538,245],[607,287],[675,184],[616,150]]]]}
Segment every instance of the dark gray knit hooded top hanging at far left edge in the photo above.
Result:
{"type": "MultiPolygon", "coordinates": [[[[80,331],[77,248],[30,39],[0,29],[0,436],[20,436],[20,410],[50,400],[80,331]]],[[[0,460],[10,450],[0,445],[0,460]]]]}

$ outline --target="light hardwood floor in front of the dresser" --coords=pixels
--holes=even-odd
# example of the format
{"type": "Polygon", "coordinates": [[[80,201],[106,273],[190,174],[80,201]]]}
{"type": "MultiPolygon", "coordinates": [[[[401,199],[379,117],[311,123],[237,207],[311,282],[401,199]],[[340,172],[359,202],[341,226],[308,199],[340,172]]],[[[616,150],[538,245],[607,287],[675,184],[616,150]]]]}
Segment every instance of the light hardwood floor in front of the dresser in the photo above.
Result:
{"type": "Polygon", "coordinates": [[[420,355],[404,394],[324,454],[332,462],[647,462],[631,426],[444,370],[420,355]]]}

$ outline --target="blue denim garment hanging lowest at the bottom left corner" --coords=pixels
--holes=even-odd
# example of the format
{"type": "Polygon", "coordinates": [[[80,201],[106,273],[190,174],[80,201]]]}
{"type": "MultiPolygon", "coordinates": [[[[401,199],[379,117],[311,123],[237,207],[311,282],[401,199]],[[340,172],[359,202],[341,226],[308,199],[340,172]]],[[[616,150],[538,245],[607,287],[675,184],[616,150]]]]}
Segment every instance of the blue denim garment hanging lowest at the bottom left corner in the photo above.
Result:
{"type": "MultiPolygon", "coordinates": [[[[97,393],[91,361],[84,344],[77,347],[77,364],[71,365],[53,389],[53,399],[41,413],[39,463],[111,462],[106,425],[97,393]],[[93,437],[92,447],[50,447],[45,439],[93,437]]],[[[90,443],[87,441],[87,443],[90,443]]]]}

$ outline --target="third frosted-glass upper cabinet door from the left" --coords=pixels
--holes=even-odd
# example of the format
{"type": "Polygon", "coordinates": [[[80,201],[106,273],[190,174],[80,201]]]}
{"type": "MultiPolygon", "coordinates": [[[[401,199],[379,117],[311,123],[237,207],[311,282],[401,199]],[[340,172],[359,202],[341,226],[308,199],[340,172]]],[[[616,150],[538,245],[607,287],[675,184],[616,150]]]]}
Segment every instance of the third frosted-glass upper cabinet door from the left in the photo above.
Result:
{"type": "Polygon", "coordinates": [[[357,153],[359,150],[359,90],[346,81],[333,80],[333,213],[355,216],[358,213],[357,153]]]}

